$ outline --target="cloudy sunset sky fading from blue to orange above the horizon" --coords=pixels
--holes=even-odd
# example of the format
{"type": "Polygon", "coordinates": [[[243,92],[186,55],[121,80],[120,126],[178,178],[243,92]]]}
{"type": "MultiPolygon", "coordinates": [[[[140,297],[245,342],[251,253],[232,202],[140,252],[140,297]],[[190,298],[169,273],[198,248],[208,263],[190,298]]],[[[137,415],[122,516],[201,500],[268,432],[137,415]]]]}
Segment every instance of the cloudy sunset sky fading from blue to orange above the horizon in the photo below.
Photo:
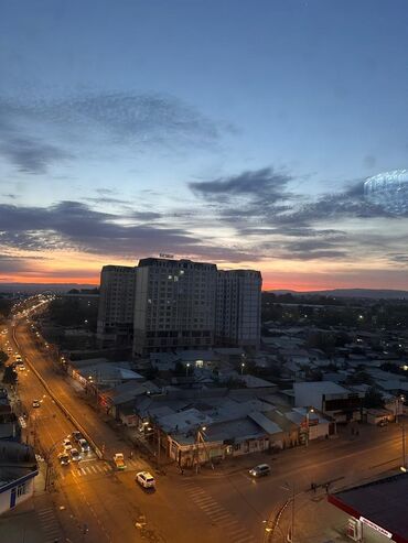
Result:
{"type": "Polygon", "coordinates": [[[172,253],[408,290],[406,0],[0,0],[0,281],[172,253]]]}

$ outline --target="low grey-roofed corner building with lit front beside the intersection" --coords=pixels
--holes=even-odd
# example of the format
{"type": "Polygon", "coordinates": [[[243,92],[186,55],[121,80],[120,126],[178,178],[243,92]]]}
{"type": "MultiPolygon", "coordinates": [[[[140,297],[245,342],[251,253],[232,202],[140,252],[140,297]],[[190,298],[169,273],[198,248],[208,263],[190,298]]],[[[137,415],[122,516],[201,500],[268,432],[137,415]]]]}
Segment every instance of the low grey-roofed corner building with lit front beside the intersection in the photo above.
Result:
{"type": "Polygon", "coordinates": [[[277,422],[270,403],[248,397],[246,389],[217,392],[140,398],[138,427],[160,434],[168,456],[181,467],[298,444],[296,424],[284,417],[277,422]]]}

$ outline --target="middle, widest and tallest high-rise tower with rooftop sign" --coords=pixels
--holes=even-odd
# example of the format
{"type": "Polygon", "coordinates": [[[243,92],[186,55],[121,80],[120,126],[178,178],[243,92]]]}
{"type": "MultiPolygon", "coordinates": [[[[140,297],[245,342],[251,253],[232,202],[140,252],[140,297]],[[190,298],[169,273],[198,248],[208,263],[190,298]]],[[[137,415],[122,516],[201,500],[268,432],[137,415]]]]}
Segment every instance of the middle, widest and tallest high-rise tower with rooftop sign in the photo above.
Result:
{"type": "Polygon", "coordinates": [[[147,258],[136,275],[135,355],[214,345],[215,264],[147,258]]]}

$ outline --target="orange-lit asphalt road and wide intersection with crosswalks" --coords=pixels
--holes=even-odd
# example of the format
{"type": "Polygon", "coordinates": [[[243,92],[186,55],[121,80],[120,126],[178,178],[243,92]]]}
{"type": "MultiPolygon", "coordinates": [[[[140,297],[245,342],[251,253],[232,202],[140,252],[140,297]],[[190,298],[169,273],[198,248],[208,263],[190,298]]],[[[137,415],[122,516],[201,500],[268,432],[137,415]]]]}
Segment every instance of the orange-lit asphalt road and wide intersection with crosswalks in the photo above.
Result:
{"type": "MultiPolygon", "coordinates": [[[[120,434],[82,401],[68,380],[57,372],[50,354],[25,321],[17,326],[15,338],[19,349],[14,350],[25,358],[28,368],[19,372],[18,385],[20,409],[29,414],[25,436],[44,454],[53,449],[50,492],[64,531],[65,539],[60,541],[262,542],[266,541],[264,521],[273,518],[294,491],[297,543],[321,543],[331,533],[334,520],[330,515],[335,513],[332,506],[324,506],[325,484],[330,484],[329,491],[335,491],[396,473],[401,464],[401,432],[397,424],[384,428],[362,426],[359,436],[343,431],[337,439],[311,443],[307,448],[276,455],[233,459],[215,470],[203,468],[198,475],[181,475],[170,468],[167,475],[154,475],[155,491],[144,491],[135,482],[135,475],[146,468],[154,474],[153,467],[135,456],[128,458],[127,469],[118,473],[112,455],[121,452],[128,457],[130,453],[120,434]],[[37,374],[46,382],[47,390],[37,374]],[[62,439],[76,428],[50,392],[99,447],[105,445],[105,459],[89,454],[75,465],[57,464],[62,439]],[[42,400],[41,408],[31,406],[34,399],[42,400]],[[261,461],[271,465],[272,474],[254,480],[248,469],[261,461]],[[312,481],[319,485],[316,495],[310,490],[312,481]],[[324,507],[326,512],[321,513],[324,507]]],[[[288,509],[282,517],[282,533],[289,520],[288,509]]]]}

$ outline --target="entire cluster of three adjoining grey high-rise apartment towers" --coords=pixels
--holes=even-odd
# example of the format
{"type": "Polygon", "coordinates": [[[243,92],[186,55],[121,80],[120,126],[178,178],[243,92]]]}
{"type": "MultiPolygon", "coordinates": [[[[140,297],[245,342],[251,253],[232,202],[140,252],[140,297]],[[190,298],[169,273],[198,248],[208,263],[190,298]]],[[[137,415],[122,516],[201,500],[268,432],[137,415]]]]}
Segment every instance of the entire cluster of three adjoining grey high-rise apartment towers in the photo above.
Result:
{"type": "Polygon", "coordinates": [[[100,274],[100,346],[131,346],[135,356],[214,346],[257,349],[261,275],[216,264],[146,258],[100,274]]]}

